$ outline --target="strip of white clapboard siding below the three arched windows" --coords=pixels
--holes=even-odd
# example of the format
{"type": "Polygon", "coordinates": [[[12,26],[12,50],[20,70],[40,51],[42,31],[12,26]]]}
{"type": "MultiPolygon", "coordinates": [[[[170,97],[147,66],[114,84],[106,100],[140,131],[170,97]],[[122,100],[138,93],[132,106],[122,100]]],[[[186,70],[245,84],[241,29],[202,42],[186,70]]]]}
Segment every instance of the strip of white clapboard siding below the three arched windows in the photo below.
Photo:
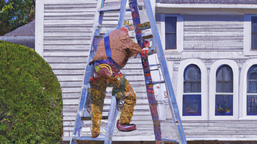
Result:
{"type": "Polygon", "coordinates": [[[183,121],[187,138],[256,138],[257,120],[183,121]]]}

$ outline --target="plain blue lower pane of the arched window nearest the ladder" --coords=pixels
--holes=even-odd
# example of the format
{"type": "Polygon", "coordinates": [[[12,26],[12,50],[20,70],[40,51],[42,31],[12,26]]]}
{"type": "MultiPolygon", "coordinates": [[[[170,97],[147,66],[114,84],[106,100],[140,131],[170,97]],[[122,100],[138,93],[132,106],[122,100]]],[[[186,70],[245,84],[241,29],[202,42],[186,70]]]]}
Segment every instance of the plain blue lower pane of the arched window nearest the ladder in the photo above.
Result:
{"type": "Polygon", "coordinates": [[[183,95],[182,116],[201,115],[201,95],[183,95]]]}

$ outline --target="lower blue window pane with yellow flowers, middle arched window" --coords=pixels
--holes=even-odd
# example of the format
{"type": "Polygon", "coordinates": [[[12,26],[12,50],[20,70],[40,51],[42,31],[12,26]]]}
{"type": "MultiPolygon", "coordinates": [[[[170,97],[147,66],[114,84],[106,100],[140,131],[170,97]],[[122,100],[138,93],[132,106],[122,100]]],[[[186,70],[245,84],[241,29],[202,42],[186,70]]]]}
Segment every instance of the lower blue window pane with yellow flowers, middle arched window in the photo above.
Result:
{"type": "Polygon", "coordinates": [[[233,95],[215,95],[215,116],[233,116],[233,95]]]}

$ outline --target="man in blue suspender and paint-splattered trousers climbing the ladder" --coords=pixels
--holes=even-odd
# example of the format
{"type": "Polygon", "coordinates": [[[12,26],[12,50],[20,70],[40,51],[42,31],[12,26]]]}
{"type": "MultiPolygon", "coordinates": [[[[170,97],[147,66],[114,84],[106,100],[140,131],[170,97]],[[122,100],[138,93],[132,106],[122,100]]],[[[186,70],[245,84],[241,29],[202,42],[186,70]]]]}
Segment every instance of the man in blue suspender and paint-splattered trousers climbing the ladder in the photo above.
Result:
{"type": "Polygon", "coordinates": [[[117,128],[121,131],[132,131],[136,129],[135,124],[130,124],[136,104],[136,95],[120,72],[128,58],[136,57],[142,48],[128,36],[128,29],[122,27],[115,29],[109,35],[105,35],[98,45],[96,54],[90,62],[94,65],[93,76],[90,78],[92,129],[93,138],[99,136],[106,87],[113,86],[112,95],[117,101],[123,101],[120,121],[117,128]]]}

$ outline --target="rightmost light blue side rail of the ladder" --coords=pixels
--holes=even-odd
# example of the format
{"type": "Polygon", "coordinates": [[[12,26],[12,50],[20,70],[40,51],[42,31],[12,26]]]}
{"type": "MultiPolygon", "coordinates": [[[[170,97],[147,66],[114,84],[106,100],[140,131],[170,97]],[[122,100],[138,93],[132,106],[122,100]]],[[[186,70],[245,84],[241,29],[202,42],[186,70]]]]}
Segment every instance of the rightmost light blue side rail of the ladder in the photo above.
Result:
{"type": "Polygon", "coordinates": [[[155,19],[154,19],[154,16],[153,16],[151,4],[150,4],[149,0],[143,0],[143,1],[144,1],[144,4],[145,4],[146,12],[147,12],[149,22],[150,22],[150,25],[151,25],[152,35],[154,37],[155,49],[156,49],[156,52],[157,52],[157,55],[158,55],[159,62],[161,64],[160,67],[162,69],[162,73],[163,73],[164,79],[166,81],[167,91],[169,93],[170,108],[171,108],[171,111],[174,110],[176,118],[177,118],[177,120],[179,122],[179,125],[180,125],[180,126],[178,126],[178,131],[179,131],[179,135],[181,137],[181,142],[183,144],[186,144],[187,141],[186,141],[186,137],[185,137],[183,127],[182,127],[182,122],[181,122],[180,115],[179,115],[179,110],[178,110],[178,105],[177,105],[177,102],[176,102],[176,97],[175,97],[174,90],[173,90],[173,87],[172,87],[171,79],[169,77],[168,68],[167,68],[167,64],[166,64],[166,59],[165,59],[165,55],[163,53],[163,49],[162,49],[162,45],[161,45],[161,39],[160,39],[160,36],[159,36],[157,25],[155,23],[155,19]],[[172,110],[172,107],[173,107],[173,110],[172,110]]]}

